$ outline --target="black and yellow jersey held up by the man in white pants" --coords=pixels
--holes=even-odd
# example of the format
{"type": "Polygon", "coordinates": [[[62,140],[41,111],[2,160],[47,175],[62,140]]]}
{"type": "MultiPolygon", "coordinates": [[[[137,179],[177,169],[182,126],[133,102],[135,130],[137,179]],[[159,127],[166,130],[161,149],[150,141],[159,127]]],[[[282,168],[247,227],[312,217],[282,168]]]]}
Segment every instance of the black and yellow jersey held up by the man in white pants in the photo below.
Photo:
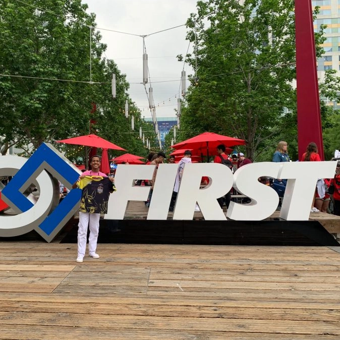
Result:
{"type": "Polygon", "coordinates": [[[85,176],[77,182],[82,189],[79,211],[90,213],[107,213],[107,202],[112,182],[107,177],[85,176]]]}

